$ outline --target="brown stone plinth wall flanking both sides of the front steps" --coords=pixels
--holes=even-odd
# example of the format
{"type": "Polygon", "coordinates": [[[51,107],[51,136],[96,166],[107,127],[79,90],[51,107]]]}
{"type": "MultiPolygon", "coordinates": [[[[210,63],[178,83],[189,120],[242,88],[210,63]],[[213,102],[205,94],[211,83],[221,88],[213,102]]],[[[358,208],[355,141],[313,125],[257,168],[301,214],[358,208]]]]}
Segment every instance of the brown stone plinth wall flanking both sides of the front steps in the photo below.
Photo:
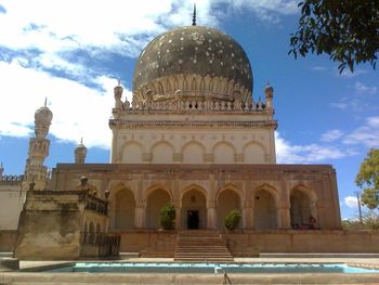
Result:
{"type": "MultiPolygon", "coordinates": [[[[175,231],[123,231],[122,252],[173,257],[175,231]]],[[[222,233],[235,257],[253,252],[379,252],[379,231],[240,231],[222,233]]]]}

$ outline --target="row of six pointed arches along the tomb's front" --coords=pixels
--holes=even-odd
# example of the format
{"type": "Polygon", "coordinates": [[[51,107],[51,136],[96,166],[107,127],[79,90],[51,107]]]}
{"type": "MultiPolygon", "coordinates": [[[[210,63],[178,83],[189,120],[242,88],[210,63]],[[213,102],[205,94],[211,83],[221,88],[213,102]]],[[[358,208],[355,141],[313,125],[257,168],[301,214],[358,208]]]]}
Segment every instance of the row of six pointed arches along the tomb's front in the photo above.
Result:
{"type": "Polygon", "coordinates": [[[246,192],[228,185],[211,195],[201,186],[192,185],[179,195],[159,186],[135,195],[121,186],[110,196],[110,228],[158,229],[160,209],[169,202],[177,209],[175,229],[223,230],[224,218],[233,209],[243,213],[239,229],[318,229],[323,225],[323,221],[318,221],[316,194],[310,189],[296,186],[284,200],[276,189],[266,184],[246,192]]]}

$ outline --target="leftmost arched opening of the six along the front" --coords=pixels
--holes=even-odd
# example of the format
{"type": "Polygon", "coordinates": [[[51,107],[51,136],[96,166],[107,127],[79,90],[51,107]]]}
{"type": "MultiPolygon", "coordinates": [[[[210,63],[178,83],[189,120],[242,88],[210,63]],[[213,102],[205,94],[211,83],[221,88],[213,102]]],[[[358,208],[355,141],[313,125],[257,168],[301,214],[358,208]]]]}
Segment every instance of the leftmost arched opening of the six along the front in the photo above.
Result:
{"type": "Polygon", "coordinates": [[[114,209],[114,228],[116,230],[128,230],[134,228],[135,200],[133,192],[128,189],[119,190],[112,205],[114,209]]]}

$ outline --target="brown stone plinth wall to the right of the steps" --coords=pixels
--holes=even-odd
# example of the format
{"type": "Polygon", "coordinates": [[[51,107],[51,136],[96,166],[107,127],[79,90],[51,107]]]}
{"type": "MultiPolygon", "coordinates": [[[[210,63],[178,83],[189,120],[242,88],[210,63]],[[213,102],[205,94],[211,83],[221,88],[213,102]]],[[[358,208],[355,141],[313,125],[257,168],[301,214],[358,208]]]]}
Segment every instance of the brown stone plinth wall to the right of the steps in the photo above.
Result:
{"type": "Polygon", "coordinates": [[[379,252],[378,231],[245,231],[224,233],[235,256],[260,252],[379,252]]]}

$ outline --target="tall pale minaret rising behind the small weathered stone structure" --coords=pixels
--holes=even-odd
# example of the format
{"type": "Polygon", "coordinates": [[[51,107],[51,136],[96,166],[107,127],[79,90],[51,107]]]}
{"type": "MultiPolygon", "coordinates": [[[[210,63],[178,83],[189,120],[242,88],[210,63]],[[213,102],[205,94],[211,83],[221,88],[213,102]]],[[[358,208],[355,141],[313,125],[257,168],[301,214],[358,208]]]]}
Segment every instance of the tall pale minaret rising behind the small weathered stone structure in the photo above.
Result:
{"type": "Polygon", "coordinates": [[[43,165],[49,156],[50,140],[47,139],[53,113],[47,106],[40,107],[35,113],[35,138],[29,140],[29,153],[26,160],[23,189],[44,190],[48,185],[48,168],[43,165]]]}

